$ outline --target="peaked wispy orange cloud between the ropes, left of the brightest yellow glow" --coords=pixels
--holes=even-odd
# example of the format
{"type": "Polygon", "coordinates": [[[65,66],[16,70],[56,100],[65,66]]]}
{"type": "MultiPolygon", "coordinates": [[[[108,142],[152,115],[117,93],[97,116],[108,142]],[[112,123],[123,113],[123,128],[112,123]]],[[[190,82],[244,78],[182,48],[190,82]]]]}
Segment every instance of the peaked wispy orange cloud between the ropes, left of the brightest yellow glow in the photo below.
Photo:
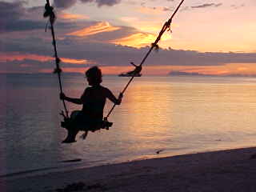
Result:
{"type": "Polygon", "coordinates": [[[114,30],[119,30],[120,27],[111,26],[109,22],[99,22],[94,26],[86,27],[82,30],[74,31],[68,35],[74,35],[78,37],[86,37],[92,34],[99,34],[103,32],[110,32],[114,30]]]}

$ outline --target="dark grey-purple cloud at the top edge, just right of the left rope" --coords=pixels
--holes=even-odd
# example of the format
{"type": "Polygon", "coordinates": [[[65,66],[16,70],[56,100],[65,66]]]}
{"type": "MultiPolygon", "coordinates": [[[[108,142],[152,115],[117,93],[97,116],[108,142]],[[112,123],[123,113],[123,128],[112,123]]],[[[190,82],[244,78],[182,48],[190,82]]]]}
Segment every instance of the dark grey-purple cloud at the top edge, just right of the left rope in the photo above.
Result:
{"type": "Polygon", "coordinates": [[[94,2],[100,6],[114,6],[121,2],[121,0],[54,0],[54,6],[62,9],[74,6],[76,2],[90,3],[94,2]]]}

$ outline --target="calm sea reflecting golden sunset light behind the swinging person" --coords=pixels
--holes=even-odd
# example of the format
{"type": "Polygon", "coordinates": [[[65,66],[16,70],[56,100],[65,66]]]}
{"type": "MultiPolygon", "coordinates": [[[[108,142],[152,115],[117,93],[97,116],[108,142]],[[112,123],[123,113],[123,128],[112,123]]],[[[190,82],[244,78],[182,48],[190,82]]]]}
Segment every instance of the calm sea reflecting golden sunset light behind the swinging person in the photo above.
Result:
{"type": "MultiPolygon", "coordinates": [[[[79,75],[63,80],[71,97],[79,97],[86,86],[79,75]]],[[[66,130],[60,127],[56,76],[1,74],[0,81],[0,175],[256,144],[255,78],[135,78],[109,118],[114,126],[71,145],[61,143],[66,130]],[[62,162],[75,158],[82,161],[62,162]]],[[[127,81],[106,76],[102,85],[118,95],[127,81]]],[[[108,102],[106,112],[111,106],[108,102]]]]}

